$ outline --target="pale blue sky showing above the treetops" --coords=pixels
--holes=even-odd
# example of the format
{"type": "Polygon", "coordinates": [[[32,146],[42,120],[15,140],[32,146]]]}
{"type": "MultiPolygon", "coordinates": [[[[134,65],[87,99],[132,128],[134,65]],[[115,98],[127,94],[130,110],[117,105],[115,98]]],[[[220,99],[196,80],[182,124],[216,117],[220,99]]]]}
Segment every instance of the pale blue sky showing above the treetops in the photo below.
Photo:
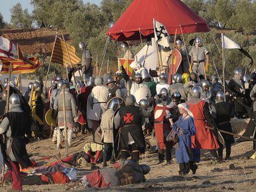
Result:
{"type": "MultiPolygon", "coordinates": [[[[30,5],[30,0],[0,0],[0,13],[4,17],[5,22],[10,22],[11,19],[11,12],[10,9],[12,6],[20,2],[22,4],[23,9],[28,9],[28,11],[31,13],[33,10],[33,7],[30,5]]],[[[91,2],[95,4],[100,4],[101,0],[83,0],[83,2],[91,2]]]]}

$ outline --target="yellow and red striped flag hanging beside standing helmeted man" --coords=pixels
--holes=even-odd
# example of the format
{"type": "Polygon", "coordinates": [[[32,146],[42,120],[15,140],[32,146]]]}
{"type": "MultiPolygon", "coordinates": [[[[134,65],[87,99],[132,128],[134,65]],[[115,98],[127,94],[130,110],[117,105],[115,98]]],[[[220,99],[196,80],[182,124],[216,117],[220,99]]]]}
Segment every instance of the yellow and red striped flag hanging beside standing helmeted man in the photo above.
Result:
{"type": "Polygon", "coordinates": [[[77,57],[77,55],[75,54],[74,46],[71,46],[68,43],[66,43],[66,45],[64,41],[61,40],[61,38],[58,37],[56,39],[56,43],[53,48],[53,57],[51,61],[64,66],[66,66],[67,64],[67,66],[70,67],[70,63],[69,63],[69,56],[70,56],[71,65],[79,64],[81,62],[81,59],[77,57]],[[67,48],[66,48],[66,45],[67,45],[67,48]],[[69,51],[69,56],[67,54],[67,51],[69,51]]]}

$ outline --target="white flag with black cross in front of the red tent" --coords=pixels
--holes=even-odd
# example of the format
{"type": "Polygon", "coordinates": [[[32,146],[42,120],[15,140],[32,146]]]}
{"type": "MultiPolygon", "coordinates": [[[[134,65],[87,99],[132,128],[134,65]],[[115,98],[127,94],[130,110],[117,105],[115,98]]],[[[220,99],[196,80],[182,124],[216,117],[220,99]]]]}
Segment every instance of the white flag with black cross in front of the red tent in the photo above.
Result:
{"type": "Polygon", "coordinates": [[[160,23],[154,19],[153,25],[154,25],[154,33],[155,33],[156,43],[158,43],[164,47],[169,47],[170,46],[170,44],[169,44],[170,36],[169,36],[168,31],[164,27],[163,23],[160,23]]]}

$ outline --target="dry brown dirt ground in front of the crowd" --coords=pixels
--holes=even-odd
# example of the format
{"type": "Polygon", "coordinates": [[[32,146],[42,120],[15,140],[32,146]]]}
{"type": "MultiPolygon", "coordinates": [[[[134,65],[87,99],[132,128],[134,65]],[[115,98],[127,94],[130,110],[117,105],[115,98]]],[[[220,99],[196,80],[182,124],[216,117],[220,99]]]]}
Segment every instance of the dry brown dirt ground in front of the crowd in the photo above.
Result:
{"type": "MultiPolygon", "coordinates": [[[[92,136],[78,136],[73,139],[73,146],[69,153],[82,151],[83,145],[92,140],[92,136]]],[[[231,160],[217,164],[208,151],[202,152],[201,162],[195,175],[190,172],[186,177],[178,175],[179,165],[173,160],[171,165],[156,165],[157,154],[145,154],[140,164],[147,163],[151,170],[146,175],[146,182],[139,185],[127,185],[109,188],[105,191],[255,191],[256,161],[248,159],[252,151],[252,142],[236,143],[233,145],[231,160]]],[[[36,141],[27,145],[27,151],[40,165],[53,162],[58,156],[65,156],[65,149],[56,149],[51,139],[36,141]],[[43,157],[50,157],[49,161],[42,161],[43,157]]],[[[174,149],[173,149],[174,152],[174,149]]],[[[175,158],[174,154],[173,157],[175,158]]],[[[102,164],[98,165],[99,167],[102,164]]],[[[79,170],[79,177],[91,172],[90,165],[79,170]]],[[[3,191],[11,186],[4,186],[3,191]]],[[[66,191],[67,185],[23,186],[24,191],[66,191]]],[[[2,190],[0,190],[2,191],[2,190]]],[[[92,189],[72,189],[69,191],[98,191],[92,189]]]]}

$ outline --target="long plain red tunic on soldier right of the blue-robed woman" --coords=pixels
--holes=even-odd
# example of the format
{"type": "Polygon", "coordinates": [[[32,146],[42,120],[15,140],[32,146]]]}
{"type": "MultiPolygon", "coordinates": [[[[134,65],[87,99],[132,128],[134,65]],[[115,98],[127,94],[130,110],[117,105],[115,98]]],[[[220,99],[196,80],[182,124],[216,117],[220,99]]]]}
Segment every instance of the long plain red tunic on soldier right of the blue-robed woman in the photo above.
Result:
{"type": "Polygon", "coordinates": [[[200,101],[195,104],[189,104],[189,110],[194,115],[195,128],[197,134],[191,137],[191,147],[197,149],[218,149],[220,148],[218,141],[213,133],[207,127],[205,115],[203,114],[203,106],[206,101],[200,101]]]}

